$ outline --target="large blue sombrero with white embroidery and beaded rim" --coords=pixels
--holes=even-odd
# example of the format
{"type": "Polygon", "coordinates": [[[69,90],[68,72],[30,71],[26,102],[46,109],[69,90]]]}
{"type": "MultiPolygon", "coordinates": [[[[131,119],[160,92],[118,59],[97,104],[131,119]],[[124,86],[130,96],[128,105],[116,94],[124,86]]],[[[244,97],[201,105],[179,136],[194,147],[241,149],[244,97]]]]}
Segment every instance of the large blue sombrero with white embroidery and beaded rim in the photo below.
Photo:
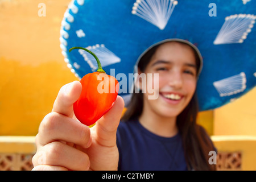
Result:
{"type": "MultiPolygon", "coordinates": [[[[203,56],[197,95],[200,110],[220,107],[256,85],[256,1],[76,0],[61,23],[61,49],[79,78],[97,69],[85,47],[109,75],[134,72],[138,57],[164,39],[184,39],[203,56]]],[[[131,82],[119,93],[129,97],[131,82]]]]}

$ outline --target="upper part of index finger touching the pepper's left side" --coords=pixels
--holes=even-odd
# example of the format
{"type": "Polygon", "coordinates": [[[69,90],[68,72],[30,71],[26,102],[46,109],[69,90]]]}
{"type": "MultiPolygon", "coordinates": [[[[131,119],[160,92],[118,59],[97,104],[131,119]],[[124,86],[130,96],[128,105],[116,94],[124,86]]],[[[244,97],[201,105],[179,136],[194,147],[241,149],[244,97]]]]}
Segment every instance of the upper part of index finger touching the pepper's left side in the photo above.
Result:
{"type": "Polygon", "coordinates": [[[73,81],[61,87],[57,98],[53,104],[52,112],[73,117],[73,104],[78,100],[82,91],[79,81],[73,81]]]}

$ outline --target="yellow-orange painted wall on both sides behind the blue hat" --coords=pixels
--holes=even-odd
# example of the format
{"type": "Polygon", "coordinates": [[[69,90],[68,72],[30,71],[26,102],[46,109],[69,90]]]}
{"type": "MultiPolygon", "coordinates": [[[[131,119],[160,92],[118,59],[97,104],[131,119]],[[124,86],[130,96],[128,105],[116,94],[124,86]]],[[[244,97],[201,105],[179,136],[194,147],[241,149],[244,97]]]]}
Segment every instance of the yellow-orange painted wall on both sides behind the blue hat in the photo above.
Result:
{"type": "MultiPolygon", "coordinates": [[[[64,84],[78,80],[60,49],[71,0],[0,0],[0,135],[36,135],[64,84]],[[46,16],[38,15],[39,3],[46,16]]],[[[256,135],[256,88],[199,114],[210,135],[256,135]]]]}

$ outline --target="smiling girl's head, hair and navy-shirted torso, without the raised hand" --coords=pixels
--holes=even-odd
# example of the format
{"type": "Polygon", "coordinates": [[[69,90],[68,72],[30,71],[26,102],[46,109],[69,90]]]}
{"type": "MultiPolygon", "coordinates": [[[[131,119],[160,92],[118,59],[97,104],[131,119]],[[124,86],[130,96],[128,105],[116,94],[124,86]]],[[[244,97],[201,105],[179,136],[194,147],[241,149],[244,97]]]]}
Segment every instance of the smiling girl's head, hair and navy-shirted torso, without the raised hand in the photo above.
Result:
{"type": "Polygon", "coordinates": [[[138,73],[159,74],[159,97],[133,94],[117,133],[119,169],[215,169],[208,163],[213,143],[196,125],[201,67],[199,51],[184,40],[164,40],[143,53],[138,73]]]}

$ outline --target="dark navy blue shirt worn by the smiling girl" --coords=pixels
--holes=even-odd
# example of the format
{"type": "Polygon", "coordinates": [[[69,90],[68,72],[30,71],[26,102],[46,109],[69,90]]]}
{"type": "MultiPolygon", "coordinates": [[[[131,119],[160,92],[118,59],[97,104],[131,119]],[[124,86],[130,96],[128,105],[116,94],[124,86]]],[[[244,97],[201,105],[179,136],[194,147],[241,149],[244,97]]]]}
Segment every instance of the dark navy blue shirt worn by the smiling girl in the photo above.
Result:
{"type": "Polygon", "coordinates": [[[118,170],[187,170],[181,135],[166,138],[145,129],[138,120],[120,122],[117,130],[118,170]]]}

